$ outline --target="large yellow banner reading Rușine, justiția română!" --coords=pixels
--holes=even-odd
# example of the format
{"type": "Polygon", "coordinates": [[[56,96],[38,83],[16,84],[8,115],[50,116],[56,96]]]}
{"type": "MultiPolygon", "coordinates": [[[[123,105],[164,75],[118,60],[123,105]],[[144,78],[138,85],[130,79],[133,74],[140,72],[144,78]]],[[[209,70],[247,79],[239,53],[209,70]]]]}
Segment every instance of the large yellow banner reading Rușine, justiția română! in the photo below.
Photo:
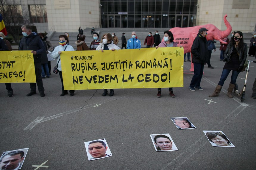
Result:
{"type": "Polygon", "coordinates": [[[183,87],[183,48],[63,51],[65,90],[183,87]]]}

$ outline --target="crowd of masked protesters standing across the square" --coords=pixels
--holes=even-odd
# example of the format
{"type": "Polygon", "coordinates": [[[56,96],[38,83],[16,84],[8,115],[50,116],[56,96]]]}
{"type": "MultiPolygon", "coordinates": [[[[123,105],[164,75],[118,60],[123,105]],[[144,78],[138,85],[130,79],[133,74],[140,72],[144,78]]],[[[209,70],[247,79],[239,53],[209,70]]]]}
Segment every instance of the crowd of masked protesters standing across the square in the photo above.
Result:
{"type": "MultiPolygon", "coordinates": [[[[38,85],[38,91],[41,97],[44,97],[44,88],[43,81],[44,78],[49,78],[51,75],[51,61],[57,59],[57,72],[60,75],[60,80],[62,84],[62,93],[60,96],[64,96],[68,94],[67,90],[64,90],[63,86],[63,76],[61,69],[61,61],[60,54],[62,51],[74,51],[74,48],[69,45],[69,34],[65,32],[65,34],[59,36],[59,44],[57,47],[53,47],[51,42],[47,39],[47,36],[43,33],[35,33],[32,32],[32,29],[29,25],[24,25],[21,27],[23,38],[21,39],[19,50],[31,50],[34,56],[34,64],[35,64],[35,75],[36,75],[36,83],[30,83],[30,93],[27,96],[32,96],[36,94],[36,85],[38,85]],[[32,41],[33,40],[33,41],[32,41]]],[[[117,46],[118,38],[115,33],[104,34],[102,38],[99,37],[97,32],[94,32],[95,29],[92,28],[91,34],[93,37],[93,41],[90,43],[89,47],[85,43],[85,35],[83,35],[83,30],[81,27],[78,29],[79,34],[77,35],[77,41],[75,44],[77,45],[77,50],[119,50],[120,47],[117,46]]],[[[214,45],[214,41],[207,41],[206,28],[200,28],[196,38],[193,41],[193,45],[191,47],[191,53],[193,55],[192,63],[194,65],[194,74],[189,85],[189,89],[191,91],[203,90],[200,86],[204,65],[207,63],[208,68],[213,69],[210,65],[210,58],[212,50],[216,51],[216,47],[214,45]]],[[[231,40],[228,37],[223,39],[227,44],[222,44],[220,46],[220,61],[225,62],[223,67],[223,71],[221,74],[220,81],[213,94],[209,95],[209,97],[216,97],[221,91],[222,86],[224,85],[224,81],[227,79],[227,76],[232,71],[231,81],[228,88],[228,97],[232,98],[232,90],[235,87],[235,82],[238,77],[238,74],[244,70],[244,64],[247,57],[247,44],[243,41],[243,33],[241,31],[232,32],[231,40]]],[[[249,48],[249,56],[255,56],[255,41],[256,34],[251,38],[250,48],[249,48]]],[[[7,51],[12,50],[10,42],[5,39],[3,33],[0,32],[0,50],[7,51]]],[[[125,47],[125,49],[139,49],[141,48],[141,41],[138,39],[136,32],[132,31],[131,38],[126,39],[126,34],[122,34],[121,38],[121,49],[125,47]]],[[[144,41],[144,45],[146,47],[154,47],[157,49],[159,47],[177,47],[177,43],[174,42],[174,36],[171,31],[165,31],[163,36],[163,41],[161,42],[161,38],[158,31],[155,31],[155,34],[152,36],[152,32],[149,32],[148,36],[144,41]]],[[[184,61],[185,61],[184,54],[184,61]]],[[[188,61],[190,55],[188,53],[188,61]]],[[[13,96],[13,89],[11,87],[11,83],[5,83],[6,89],[8,92],[8,97],[13,96]]],[[[69,90],[70,96],[74,96],[74,90],[69,90]]],[[[108,94],[107,89],[104,89],[102,96],[106,96],[108,94]]],[[[169,94],[171,97],[175,97],[173,93],[173,88],[169,88],[169,94]]],[[[114,95],[114,89],[110,89],[109,96],[114,95]]],[[[157,89],[157,97],[161,97],[161,88],[157,89]]],[[[252,98],[256,98],[256,79],[253,85],[253,94],[252,98]]]]}

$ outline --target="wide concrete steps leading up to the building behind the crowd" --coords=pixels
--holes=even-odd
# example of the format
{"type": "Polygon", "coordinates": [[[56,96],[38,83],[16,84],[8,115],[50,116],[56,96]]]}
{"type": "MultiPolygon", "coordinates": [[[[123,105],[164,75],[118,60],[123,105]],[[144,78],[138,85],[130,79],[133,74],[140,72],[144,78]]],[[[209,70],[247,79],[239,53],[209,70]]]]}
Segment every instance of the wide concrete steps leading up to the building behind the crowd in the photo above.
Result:
{"type": "MultiPolygon", "coordinates": [[[[141,40],[141,47],[144,48],[145,46],[144,44],[144,40],[146,38],[146,36],[148,35],[149,32],[152,32],[152,34],[155,34],[155,31],[159,31],[160,37],[161,39],[163,38],[163,32],[166,30],[169,30],[169,28],[96,28],[95,31],[99,31],[99,38],[101,39],[103,34],[105,33],[115,33],[115,35],[118,37],[118,47],[121,48],[121,37],[122,37],[122,33],[124,32],[126,34],[126,39],[130,39],[131,38],[131,34],[132,31],[136,31],[138,39],[141,40]]],[[[84,31],[84,35],[85,37],[85,43],[87,44],[87,46],[90,46],[90,43],[93,41],[93,37],[91,34],[91,28],[86,28],[83,30],[84,31]]],[[[54,45],[54,47],[56,47],[57,45],[59,45],[59,35],[64,34],[62,32],[55,32],[51,38],[50,41],[51,43],[54,45]]],[[[77,32],[69,32],[69,45],[72,45],[74,47],[74,49],[77,49],[77,46],[75,44],[75,42],[77,41],[77,32]]],[[[243,38],[244,38],[244,42],[247,43],[248,47],[250,45],[250,39],[252,38],[252,33],[244,33],[243,34],[243,38]]],[[[231,39],[231,34],[229,36],[229,39],[231,39]]],[[[219,50],[220,47],[220,42],[216,41],[215,43],[216,46],[216,50],[219,50]]]]}

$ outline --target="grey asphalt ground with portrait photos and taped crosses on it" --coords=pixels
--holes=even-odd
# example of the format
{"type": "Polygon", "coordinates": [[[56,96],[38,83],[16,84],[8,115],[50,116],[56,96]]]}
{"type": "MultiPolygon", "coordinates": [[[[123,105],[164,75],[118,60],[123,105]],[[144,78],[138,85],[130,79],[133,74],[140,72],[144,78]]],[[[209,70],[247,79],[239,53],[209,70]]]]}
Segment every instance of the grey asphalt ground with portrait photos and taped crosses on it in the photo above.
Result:
{"type": "MultiPolygon", "coordinates": [[[[204,90],[189,90],[193,74],[184,74],[184,87],[174,88],[176,98],[168,88],[161,98],[157,89],[115,89],[112,97],[103,97],[103,90],[77,90],[61,97],[60,77],[53,73],[43,79],[45,97],[27,97],[29,83],[12,83],[14,96],[7,97],[1,83],[0,152],[28,147],[22,169],[47,160],[49,167],[40,169],[254,169],[256,65],[250,64],[243,103],[235,93],[227,97],[231,74],[219,97],[210,98],[224,66],[219,54],[212,53],[214,69],[205,66],[204,90]],[[188,117],[196,129],[178,130],[171,117],[188,117]],[[235,147],[213,147],[203,130],[223,131],[235,147]],[[167,133],[178,150],[156,152],[149,135],[167,133]],[[103,138],[113,156],[88,161],[84,142],[103,138]]],[[[190,65],[185,62],[184,70],[190,65]]],[[[239,90],[245,77],[246,72],[238,75],[239,90]]]]}

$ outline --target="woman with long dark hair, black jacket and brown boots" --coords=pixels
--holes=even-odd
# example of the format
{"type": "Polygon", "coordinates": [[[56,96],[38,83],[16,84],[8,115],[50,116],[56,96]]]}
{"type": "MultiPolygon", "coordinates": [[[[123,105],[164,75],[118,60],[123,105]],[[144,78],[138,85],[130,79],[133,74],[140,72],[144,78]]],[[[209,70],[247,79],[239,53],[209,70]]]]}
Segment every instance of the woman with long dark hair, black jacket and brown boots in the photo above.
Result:
{"type": "Polygon", "coordinates": [[[231,94],[235,88],[235,82],[238,77],[238,74],[244,69],[243,65],[247,57],[247,44],[243,42],[243,33],[241,31],[236,31],[234,38],[231,39],[231,42],[227,45],[227,49],[224,53],[224,60],[226,62],[222,73],[220,81],[216,86],[214,92],[209,95],[209,97],[217,97],[221,91],[222,86],[224,85],[227,76],[232,71],[231,80],[229,87],[227,89],[227,96],[232,98],[231,94]]]}

